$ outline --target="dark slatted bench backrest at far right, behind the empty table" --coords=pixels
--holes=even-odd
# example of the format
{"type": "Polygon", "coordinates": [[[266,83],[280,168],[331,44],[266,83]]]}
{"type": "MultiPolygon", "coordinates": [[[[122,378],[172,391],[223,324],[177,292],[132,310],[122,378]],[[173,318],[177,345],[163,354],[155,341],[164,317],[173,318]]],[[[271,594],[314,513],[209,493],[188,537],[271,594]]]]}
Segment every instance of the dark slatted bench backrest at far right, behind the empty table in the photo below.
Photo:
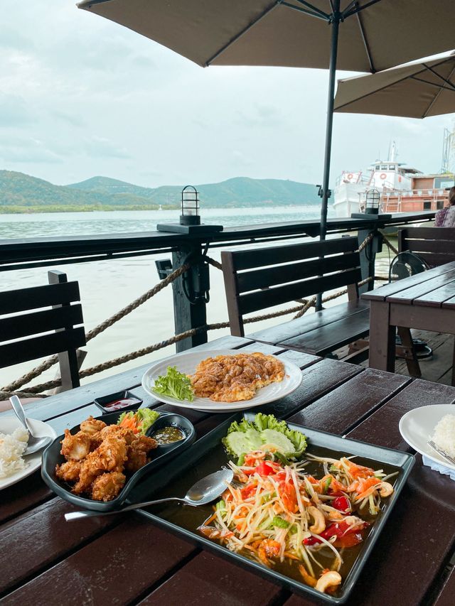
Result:
{"type": "Polygon", "coordinates": [[[431,267],[455,261],[455,227],[399,229],[398,250],[414,252],[431,267]]]}

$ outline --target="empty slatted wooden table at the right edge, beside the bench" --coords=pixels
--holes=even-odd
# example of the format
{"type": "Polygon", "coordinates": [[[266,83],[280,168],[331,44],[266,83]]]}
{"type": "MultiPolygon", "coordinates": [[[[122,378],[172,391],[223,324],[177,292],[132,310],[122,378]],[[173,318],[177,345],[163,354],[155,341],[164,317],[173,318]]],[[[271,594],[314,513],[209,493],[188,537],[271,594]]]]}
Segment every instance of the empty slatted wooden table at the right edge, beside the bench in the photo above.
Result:
{"type": "MultiPolygon", "coordinates": [[[[394,372],[397,327],[455,335],[455,261],[381,286],[362,298],[370,301],[370,368],[394,372]]],[[[455,369],[453,373],[452,384],[455,369]]]]}

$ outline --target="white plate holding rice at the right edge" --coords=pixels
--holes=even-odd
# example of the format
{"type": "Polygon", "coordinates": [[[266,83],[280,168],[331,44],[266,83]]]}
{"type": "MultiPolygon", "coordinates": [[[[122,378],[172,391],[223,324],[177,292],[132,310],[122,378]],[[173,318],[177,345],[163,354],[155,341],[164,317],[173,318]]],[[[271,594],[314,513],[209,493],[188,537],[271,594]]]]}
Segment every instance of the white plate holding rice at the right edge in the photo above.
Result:
{"type": "Polygon", "coordinates": [[[406,413],[400,418],[400,433],[407,443],[417,450],[417,453],[425,455],[429,459],[455,470],[455,465],[438,455],[438,453],[427,444],[432,438],[434,428],[441,418],[446,414],[455,414],[453,404],[432,404],[422,406],[406,413]]]}

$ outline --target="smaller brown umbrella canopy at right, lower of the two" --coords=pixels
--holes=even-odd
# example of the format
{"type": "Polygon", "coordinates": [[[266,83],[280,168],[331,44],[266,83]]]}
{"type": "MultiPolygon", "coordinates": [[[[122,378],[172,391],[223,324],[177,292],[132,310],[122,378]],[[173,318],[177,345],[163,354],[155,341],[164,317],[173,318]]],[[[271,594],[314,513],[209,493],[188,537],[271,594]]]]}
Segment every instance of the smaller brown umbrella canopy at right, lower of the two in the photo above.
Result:
{"type": "Polygon", "coordinates": [[[334,109],[427,118],[455,112],[455,54],[338,80],[334,109]]]}

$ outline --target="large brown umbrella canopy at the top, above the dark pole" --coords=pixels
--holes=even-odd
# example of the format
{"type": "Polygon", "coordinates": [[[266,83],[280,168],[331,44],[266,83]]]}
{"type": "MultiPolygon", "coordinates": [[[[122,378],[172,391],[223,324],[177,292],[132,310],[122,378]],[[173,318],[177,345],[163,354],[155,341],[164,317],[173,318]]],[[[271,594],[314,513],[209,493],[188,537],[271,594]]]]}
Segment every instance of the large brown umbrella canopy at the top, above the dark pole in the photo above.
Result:
{"type": "MultiPolygon", "coordinates": [[[[451,50],[453,0],[341,0],[338,70],[377,72],[451,50]],[[437,4],[437,6],[435,6],[437,4]]],[[[327,68],[329,0],[83,0],[198,65],[327,68]]]]}

